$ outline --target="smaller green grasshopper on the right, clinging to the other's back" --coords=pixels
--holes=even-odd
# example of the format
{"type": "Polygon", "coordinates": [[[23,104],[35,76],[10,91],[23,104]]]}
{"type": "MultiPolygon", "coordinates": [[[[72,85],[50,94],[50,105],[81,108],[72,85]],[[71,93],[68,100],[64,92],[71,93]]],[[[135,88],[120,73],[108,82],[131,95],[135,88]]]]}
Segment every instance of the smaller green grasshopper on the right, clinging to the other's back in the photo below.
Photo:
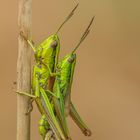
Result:
{"type": "Polygon", "coordinates": [[[53,87],[53,93],[50,92],[51,94],[56,94],[57,96],[57,98],[53,97],[54,107],[57,116],[61,122],[61,126],[63,127],[64,131],[67,132],[67,135],[69,134],[69,132],[67,130],[67,124],[65,118],[69,114],[72,117],[72,119],[75,121],[75,123],[79,126],[79,128],[82,130],[82,132],[85,134],[85,136],[91,135],[91,131],[83,122],[83,120],[81,119],[80,115],[78,114],[74,105],[71,102],[71,86],[73,81],[74,68],[76,64],[75,51],[90,32],[89,28],[93,20],[94,17],[92,18],[89,26],[83,33],[83,36],[81,37],[75,49],[70,54],[66,55],[58,63],[56,71],[59,72],[60,75],[56,75],[54,87],[53,87]]]}

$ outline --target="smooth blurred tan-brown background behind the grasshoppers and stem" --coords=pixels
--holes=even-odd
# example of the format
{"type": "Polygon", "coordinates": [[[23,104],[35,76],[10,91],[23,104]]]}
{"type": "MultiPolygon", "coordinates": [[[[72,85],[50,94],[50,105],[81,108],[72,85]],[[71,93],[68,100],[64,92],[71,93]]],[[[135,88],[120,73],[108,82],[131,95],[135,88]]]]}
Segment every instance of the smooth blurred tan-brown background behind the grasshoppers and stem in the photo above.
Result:
{"type": "MultiPolygon", "coordinates": [[[[78,50],[72,99],[93,135],[84,137],[69,119],[74,140],[140,140],[140,1],[79,0],[75,16],[60,32],[61,57],[77,43],[96,15],[78,50]]],[[[0,2],[0,139],[16,139],[18,1],[0,2]]],[[[54,33],[74,7],[71,0],[33,0],[33,39],[54,33]]],[[[34,116],[34,117],[33,117],[34,116]]],[[[39,140],[36,106],[32,138],[39,140]]]]}

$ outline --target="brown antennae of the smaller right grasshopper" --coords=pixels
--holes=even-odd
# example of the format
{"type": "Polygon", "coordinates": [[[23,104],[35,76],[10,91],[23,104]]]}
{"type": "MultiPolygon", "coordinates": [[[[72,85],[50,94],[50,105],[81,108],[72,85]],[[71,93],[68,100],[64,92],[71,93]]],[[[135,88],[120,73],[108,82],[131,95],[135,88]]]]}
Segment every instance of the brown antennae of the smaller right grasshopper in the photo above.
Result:
{"type": "Polygon", "coordinates": [[[92,25],[92,23],[93,23],[94,18],[95,18],[95,16],[91,19],[91,21],[90,21],[88,27],[86,28],[85,32],[83,33],[83,35],[82,35],[82,37],[81,37],[79,43],[76,45],[76,47],[75,47],[74,50],[72,51],[72,54],[78,49],[78,47],[80,46],[80,44],[84,41],[84,39],[85,39],[85,38],[87,37],[87,35],[89,34],[89,32],[90,32],[90,27],[91,27],[91,25],[92,25]]]}

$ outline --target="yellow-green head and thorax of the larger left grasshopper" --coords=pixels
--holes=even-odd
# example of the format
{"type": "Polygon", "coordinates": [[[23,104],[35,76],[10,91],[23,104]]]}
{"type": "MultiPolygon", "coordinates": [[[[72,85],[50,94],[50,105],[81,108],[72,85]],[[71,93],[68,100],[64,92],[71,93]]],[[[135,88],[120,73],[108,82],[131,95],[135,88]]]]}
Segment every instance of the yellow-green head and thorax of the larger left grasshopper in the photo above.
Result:
{"type": "MultiPolygon", "coordinates": [[[[49,78],[54,73],[60,49],[59,38],[57,35],[52,35],[36,47],[35,58],[36,64],[33,68],[33,92],[36,92],[36,77],[38,77],[38,84],[45,89],[49,84],[49,78]]],[[[37,93],[36,93],[37,95],[37,93]]]]}

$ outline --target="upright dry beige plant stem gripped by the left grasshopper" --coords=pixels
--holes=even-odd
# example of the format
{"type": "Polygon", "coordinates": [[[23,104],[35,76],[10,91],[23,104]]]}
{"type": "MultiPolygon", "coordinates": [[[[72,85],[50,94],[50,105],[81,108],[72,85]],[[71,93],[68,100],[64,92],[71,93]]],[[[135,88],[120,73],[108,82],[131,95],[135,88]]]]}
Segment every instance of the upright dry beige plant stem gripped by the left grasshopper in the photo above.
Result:
{"type": "MultiPolygon", "coordinates": [[[[19,32],[30,36],[32,0],[19,0],[18,26],[19,32]]],[[[17,91],[30,93],[31,90],[31,49],[27,43],[18,37],[17,61],[17,91]]],[[[17,140],[30,140],[30,115],[28,110],[29,98],[17,95],[17,140]]]]}

